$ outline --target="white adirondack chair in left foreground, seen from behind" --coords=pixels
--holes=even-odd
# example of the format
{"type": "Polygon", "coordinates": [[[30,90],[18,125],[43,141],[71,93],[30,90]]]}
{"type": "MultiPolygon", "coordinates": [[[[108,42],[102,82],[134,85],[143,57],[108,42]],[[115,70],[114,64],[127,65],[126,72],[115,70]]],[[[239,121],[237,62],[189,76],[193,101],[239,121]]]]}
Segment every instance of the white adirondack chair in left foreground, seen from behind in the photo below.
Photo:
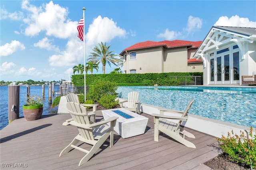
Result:
{"type": "Polygon", "coordinates": [[[110,147],[114,144],[114,126],[116,125],[116,119],[118,117],[110,117],[105,121],[100,121],[97,123],[90,124],[90,120],[86,113],[86,108],[79,105],[78,103],[68,102],[68,111],[72,116],[72,121],[68,122],[70,125],[76,126],[78,128],[79,134],[74,138],[74,140],[60,152],[60,156],[68,153],[72,148],[78,149],[85,152],[86,155],[80,160],[78,166],[86,163],[100,148],[100,146],[105,142],[110,142],[110,147]],[[82,110],[83,113],[76,112],[77,110],[82,110]],[[110,123],[110,126],[106,125],[110,123]],[[110,136],[110,139],[108,139],[110,136]],[[90,150],[85,150],[76,146],[78,142],[84,142],[92,145],[90,150]]]}

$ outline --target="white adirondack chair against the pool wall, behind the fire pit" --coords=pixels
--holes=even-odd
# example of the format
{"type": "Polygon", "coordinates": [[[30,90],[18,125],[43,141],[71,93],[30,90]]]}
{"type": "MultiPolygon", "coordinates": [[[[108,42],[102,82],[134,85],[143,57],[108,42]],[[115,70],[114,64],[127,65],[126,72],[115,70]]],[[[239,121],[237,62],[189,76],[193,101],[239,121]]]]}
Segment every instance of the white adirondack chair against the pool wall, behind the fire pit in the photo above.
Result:
{"type": "Polygon", "coordinates": [[[138,101],[139,93],[136,91],[132,91],[128,93],[128,100],[124,100],[119,102],[120,107],[128,110],[128,111],[135,111],[135,113],[140,113],[140,110],[138,109],[138,101]],[[123,106],[123,103],[127,102],[127,107],[123,106]]]}

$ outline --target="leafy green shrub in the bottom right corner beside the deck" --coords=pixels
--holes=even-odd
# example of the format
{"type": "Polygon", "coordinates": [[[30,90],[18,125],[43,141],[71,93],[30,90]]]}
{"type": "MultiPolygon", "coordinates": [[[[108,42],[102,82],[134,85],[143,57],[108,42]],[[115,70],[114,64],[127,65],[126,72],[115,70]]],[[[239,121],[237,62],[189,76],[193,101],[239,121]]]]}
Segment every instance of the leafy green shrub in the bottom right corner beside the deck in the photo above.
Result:
{"type": "Polygon", "coordinates": [[[250,166],[251,158],[252,168],[256,168],[256,135],[252,135],[252,130],[251,127],[249,140],[247,140],[244,132],[240,131],[240,136],[238,136],[234,134],[233,130],[232,135],[228,132],[227,137],[222,135],[222,138],[217,140],[221,141],[220,147],[229,160],[250,166]],[[248,143],[250,149],[248,148],[248,143]]]}

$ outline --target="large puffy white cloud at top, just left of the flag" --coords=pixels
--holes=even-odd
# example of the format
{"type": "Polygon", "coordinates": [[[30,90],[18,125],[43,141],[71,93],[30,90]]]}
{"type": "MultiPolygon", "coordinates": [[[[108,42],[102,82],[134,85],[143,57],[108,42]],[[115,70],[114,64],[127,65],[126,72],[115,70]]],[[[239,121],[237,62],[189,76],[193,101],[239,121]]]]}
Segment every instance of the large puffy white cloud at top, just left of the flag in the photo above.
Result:
{"type": "Polygon", "coordinates": [[[72,22],[67,18],[68,8],[63,8],[52,1],[37,8],[26,0],[22,2],[22,9],[30,12],[23,20],[28,24],[25,29],[27,36],[35,36],[41,31],[46,31],[47,36],[69,38],[77,32],[78,22],[72,22]]]}

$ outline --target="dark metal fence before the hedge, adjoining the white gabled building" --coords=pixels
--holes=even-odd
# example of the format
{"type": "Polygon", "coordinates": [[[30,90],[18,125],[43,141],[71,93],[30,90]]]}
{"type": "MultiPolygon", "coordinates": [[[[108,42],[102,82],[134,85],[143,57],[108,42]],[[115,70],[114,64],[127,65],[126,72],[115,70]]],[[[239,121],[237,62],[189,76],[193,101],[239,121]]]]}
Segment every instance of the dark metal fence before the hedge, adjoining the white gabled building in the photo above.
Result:
{"type": "Polygon", "coordinates": [[[178,85],[203,85],[202,76],[170,76],[171,79],[178,81],[178,85]]]}

